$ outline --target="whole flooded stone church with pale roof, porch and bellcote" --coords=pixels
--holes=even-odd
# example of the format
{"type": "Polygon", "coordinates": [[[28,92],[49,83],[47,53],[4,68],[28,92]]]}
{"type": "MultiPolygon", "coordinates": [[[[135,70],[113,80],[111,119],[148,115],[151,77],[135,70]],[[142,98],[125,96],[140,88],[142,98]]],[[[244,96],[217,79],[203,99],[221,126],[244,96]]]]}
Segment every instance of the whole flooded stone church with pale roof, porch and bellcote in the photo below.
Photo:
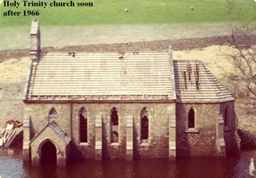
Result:
{"type": "Polygon", "coordinates": [[[234,97],[169,53],[43,53],[32,21],[23,159],[175,159],[239,152],[234,97]]]}

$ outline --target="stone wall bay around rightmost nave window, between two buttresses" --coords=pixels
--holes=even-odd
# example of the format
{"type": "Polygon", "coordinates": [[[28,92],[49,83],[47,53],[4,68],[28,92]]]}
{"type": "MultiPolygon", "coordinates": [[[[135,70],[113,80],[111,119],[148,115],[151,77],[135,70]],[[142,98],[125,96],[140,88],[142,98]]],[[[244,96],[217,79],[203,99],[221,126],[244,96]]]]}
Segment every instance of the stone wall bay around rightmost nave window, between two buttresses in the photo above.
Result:
{"type": "Polygon", "coordinates": [[[150,121],[149,139],[142,143],[140,117],[134,117],[134,158],[168,158],[169,136],[175,138],[175,134],[169,134],[170,116],[174,115],[175,105],[148,105],[146,109],[150,121]]]}

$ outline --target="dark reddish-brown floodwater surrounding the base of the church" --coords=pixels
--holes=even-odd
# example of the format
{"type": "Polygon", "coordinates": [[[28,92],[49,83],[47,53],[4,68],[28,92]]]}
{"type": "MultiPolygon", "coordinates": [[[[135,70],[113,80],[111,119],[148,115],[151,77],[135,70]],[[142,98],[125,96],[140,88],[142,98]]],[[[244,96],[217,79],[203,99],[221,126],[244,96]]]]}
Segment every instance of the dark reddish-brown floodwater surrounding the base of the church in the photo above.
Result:
{"type": "MultiPolygon", "coordinates": [[[[255,150],[241,156],[218,158],[180,158],[169,160],[86,160],[57,168],[55,165],[30,166],[22,161],[21,148],[0,149],[0,175],[6,177],[134,177],[134,178],[226,178],[249,177],[250,158],[255,150]]],[[[256,159],[255,159],[256,160],[256,159]]]]}

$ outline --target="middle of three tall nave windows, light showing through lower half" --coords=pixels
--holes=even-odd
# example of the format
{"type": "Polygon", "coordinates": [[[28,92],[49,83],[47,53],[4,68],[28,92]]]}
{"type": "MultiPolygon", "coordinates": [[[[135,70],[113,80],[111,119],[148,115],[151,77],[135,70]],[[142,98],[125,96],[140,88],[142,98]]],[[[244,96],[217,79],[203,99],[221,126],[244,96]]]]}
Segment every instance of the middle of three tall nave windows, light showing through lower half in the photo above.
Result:
{"type": "Polygon", "coordinates": [[[111,122],[111,143],[118,143],[118,110],[116,108],[110,111],[111,122]]]}

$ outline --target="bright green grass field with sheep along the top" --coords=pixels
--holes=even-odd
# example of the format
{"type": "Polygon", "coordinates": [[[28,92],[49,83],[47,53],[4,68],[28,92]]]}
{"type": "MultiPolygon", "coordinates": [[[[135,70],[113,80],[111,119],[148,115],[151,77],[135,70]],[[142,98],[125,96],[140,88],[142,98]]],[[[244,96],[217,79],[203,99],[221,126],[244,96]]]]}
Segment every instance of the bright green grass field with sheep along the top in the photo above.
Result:
{"type": "MultiPolygon", "coordinates": [[[[22,2],[21,0],[17,0],[22,2]]],[[[12,1],[11,1],[12,2],[12,1]]],[[[31,2],[31,1],[30,1],[31,2]]],[[[38,2],[38,1],[34,1],[38,2]]],[[[53,2],[45,0],[41,2],[53,2]]],[[[70,0],[56,0],[70,2],[70,0]]],[[[137,25],[226,22],[226,1],[222,0],[73,0],[93,2],[93,7],[6,7],[1,4],[0,26],[30,26],[38,18],[42,26],[137,25]],[[166,6],[163,6],[166,3],[166,6]],[[194,6],[194,10],[190,10],[194,6]],[[124,12],[124,9],[129,12],[124,12]],[[38,10],[39,16],[4,17],[8,10],[38,10]]],[[[236,1],[234,14],[238,23],[247,22],[256,14],[253,1],[236,1]]]]}

